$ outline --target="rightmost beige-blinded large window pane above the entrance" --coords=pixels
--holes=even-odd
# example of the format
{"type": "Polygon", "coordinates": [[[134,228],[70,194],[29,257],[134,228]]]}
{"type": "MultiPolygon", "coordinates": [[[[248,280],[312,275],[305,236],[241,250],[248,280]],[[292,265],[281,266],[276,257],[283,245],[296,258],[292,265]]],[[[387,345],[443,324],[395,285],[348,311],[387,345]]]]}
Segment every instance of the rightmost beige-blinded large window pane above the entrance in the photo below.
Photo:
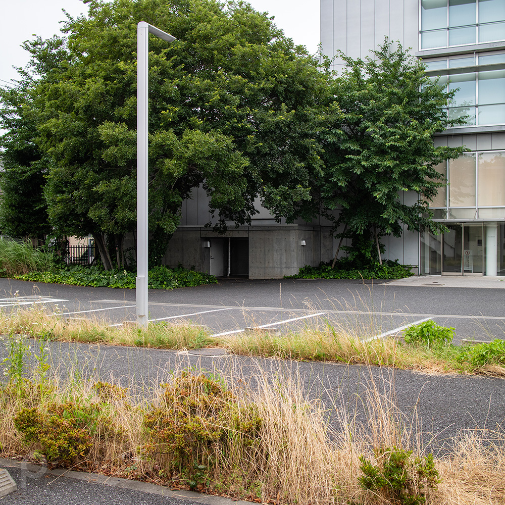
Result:
{"type": "Polygon", "coordinates": [[[479,206],[505,205],[505,157],[502,153],[479,153],[479,206]]]}

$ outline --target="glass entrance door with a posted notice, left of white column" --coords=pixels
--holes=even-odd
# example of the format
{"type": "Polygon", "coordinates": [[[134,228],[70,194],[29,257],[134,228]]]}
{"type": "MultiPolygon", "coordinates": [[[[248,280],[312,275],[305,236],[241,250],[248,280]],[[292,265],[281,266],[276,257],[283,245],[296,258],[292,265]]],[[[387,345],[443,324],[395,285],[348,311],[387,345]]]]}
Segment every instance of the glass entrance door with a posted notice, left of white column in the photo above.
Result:
{"type": "Polygon", "coordinates": [[[447,225],[442,238],[442,274],[483,275],[484,229],[482,223],[447,225]]]}

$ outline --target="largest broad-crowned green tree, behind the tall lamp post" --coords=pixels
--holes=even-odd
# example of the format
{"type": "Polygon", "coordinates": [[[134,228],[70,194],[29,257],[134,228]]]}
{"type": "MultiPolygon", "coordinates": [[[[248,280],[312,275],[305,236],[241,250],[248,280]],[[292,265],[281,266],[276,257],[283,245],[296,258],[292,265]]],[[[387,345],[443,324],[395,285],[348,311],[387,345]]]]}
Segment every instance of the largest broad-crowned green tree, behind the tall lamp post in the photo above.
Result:
{"type": "MultiPolygon", "coordinates": [[[[28,44],[35,144],[49,160],[49,222],[121,248],[136,222],[136,24],[149,40],[149,227],[164,250],[182,201],[203,186],[216,228],[250,222],[260,196],[277,214],[311,197],[321,172],[313,106],[328,75],[266,13],[215,0],[83,0],[65,38],[28,44]]],[[[40,42],[40,41],[39,41],[40,42]]],[[[162,254],[161,254],[162,255],[162,254]]]]}

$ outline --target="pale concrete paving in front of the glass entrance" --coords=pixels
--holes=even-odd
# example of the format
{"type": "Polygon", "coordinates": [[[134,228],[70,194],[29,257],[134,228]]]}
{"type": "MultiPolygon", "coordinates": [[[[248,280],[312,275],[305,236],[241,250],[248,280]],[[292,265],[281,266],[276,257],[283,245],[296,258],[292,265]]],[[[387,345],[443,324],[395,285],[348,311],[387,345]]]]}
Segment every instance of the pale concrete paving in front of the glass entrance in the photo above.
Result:
{"type": "Polygon", "coordinates": [[[388,281],[391,286],[433,286],[505,289],[505,277],[487,275],[418,275],[388,281]]]}

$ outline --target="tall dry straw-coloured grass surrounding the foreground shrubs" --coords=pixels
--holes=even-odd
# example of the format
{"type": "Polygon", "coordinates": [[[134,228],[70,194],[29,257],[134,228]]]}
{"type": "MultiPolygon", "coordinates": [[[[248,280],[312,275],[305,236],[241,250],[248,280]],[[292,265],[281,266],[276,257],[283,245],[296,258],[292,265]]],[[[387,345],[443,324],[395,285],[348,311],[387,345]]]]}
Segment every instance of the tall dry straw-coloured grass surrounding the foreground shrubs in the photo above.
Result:
{"type": "MultiPolygon", "coordinates": [[[[176,370],[174,378],[181,373],[182,370],[176,370]]],[[[354,414],[345,409],[334,391],[326,391],[328,396],[336,397],[330,407],[319,398],[309,399],[304,381],[296,372],[281,373],[278,368],[266,371],[258,366],[245,375],[248,383],[238,369],[215,379],[219,387],[232,393],[233,407],[227,413],[223,411],[221,417],[212,418],[212,422],[216,423],[216,429],[236,426],[236,416],[247,421],[246,413],[253,409],[262,420],[259,443],[248,446],[244,452],[239,433],[233,435],[233,429],[226,428],[231,433],[231,442],[225,444],[221,438],[216,439],[194,452],[195,459],[205,456],[214,462],[209,463],[198,487],[205,492],[298,505],[379,505],[387,503],[381,493],[365,491],[359,484],[362,475],[359,457],[363,455],[377,462],[377,449],[393,446],[413,450],[412,457],[424,454],[416,417],[406,418],[396,409],[394,386],[387,375],[380,384],[371,376],[360,395],[368,413],[365,425],[360,425],[354,414]],[[337,409],[337,424],[328,424],[328,409],[337,409]]],[[[193,420],[209,416],[209,403],[199,399],[204,393],[201,387],[191,392],[194,401],[190,398],[190,405],[196,406],[193,420]]],[[[77,379],[65,384],[46,381],[42,389],[27,382],[4,385],[0,396],[2,456],[33,457],[33,451],[40,450],[38,444],[24,445],[13,425],[14,416],[22,408],[38,407],[47,412],[55,405],[69,403],[94,406],[99,417],[94,428],[89,428],[92,449],[86,458],[74,463],[75,469],[187,487],[188,470],[185,473],[182,468],[178,473],[167,466],[166,462],[173,462],[173,457],[167,460],[162,457],[163,450],[155,450],[146,458],[139,451],[148,441],[148,431],[142,425],[148,406],[160,407],[166,398],[163,388],[157,388],[153,396],[146,398],[114,385],[99,392],[92,382],[77,379]]],[[[189,404],[185,405],[187,408],[189,404]]],[[[438,489],[427,494],[427,503],[505,503],[503,432],[474,431],[462,434],[452,444],[452,456],[436,459],[442,481],[438,489]]]]}

